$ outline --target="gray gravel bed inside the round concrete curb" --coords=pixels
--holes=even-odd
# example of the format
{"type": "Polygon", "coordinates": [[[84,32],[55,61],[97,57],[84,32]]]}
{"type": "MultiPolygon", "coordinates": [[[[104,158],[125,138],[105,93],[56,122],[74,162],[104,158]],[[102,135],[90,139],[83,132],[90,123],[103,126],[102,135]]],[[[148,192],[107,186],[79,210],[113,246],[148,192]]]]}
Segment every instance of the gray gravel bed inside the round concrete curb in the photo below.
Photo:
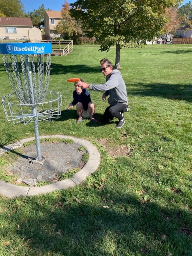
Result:
{"type": "Polygon", "coordinates": [[[32,162],[36,159],[36,145],[30,144],[26,147],[20,147],[21,153],[12,166],[6,169],[6,172],[16,174],[18,179],[38,179],[40,181],[57,181],[56,177],[62,173],[68,172],[74,168],[82,168],[82,155],[79,151],[81,145],[78,143],[41,143],[42,157],[45,161],[42,164],[32,162]]]}

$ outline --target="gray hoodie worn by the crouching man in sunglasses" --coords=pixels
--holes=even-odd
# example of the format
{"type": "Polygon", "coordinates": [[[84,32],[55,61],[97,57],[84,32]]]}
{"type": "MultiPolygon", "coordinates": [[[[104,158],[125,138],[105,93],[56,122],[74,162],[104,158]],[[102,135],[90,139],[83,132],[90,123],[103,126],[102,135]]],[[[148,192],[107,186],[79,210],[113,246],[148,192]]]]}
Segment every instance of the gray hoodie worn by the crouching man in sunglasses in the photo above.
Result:
{"type": "Polygon", "coordinates": [[[126,85],[118,69],[112,70],[110,76],[106,76],[105,84],[90,84],[89,88],[94,91],[105,91],[110,105],[120,102],[128,105],[126,85]]]}

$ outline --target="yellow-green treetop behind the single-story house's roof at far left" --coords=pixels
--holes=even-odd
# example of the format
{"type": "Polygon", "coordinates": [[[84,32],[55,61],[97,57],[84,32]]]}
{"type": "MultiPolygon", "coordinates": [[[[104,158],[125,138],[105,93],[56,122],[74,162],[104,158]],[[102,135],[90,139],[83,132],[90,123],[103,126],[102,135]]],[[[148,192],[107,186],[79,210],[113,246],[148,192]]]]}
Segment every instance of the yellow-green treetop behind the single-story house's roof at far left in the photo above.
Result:
{"type": "Polygon", "coordinates": [[[20,0],[0,0],[0,15],[4,17],[24,17],[24,5],[20,0]]]}

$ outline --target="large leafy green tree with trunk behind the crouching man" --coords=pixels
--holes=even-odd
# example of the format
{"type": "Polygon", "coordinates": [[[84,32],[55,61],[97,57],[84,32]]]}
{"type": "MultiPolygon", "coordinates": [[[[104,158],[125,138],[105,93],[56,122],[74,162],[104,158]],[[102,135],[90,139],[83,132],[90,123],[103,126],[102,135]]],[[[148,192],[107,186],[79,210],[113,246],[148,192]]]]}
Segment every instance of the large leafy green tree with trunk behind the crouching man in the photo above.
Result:
{"type": "Polygon", "coordinates": [[[153,40],[167,18],[165,8],[180,0],[77,0],[70,4],[72,16],[80,18],[88,36],[95,36],[100,50],[116,44],[116,68],[120,68],[120,49],[153,40]]]}

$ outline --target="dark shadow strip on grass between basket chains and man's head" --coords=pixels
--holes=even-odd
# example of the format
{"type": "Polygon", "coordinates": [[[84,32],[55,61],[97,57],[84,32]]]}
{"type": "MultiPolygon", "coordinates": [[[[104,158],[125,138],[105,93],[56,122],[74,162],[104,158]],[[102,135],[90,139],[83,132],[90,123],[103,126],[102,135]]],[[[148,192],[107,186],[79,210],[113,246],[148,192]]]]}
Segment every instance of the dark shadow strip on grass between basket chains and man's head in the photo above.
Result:
{"type": "Polygon", "coordinates": [[[88,65],[67,65],[67,64],[56,64],[56,63],[52,63],[51,64],[51,71],[50,74],[51,75],[55,75],[55,74],[68,74],[68,73],[74,73],[74,74],[82,74],[82,73],[99,73],[100,72],[100,68],[94,68],[92,66],[88,66],[88,65]]]}

